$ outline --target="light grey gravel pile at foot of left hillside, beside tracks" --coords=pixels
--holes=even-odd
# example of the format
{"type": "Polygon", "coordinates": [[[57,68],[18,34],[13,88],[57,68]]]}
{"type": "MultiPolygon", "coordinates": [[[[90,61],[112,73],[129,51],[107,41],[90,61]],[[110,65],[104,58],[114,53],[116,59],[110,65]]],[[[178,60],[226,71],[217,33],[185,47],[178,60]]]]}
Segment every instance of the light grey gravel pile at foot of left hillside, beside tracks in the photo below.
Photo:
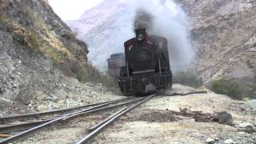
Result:
{"type": "MultiPolygon", "coordinates": [[[[80,83],[74,78],[64,78],[49,94],[30,100],[30,110],[44,111],[106,102],[122,98],[117,91],[107,90],[102,84],[80,83]]],[[[121,95],[121,94],[120,94],[121,95]]]]}

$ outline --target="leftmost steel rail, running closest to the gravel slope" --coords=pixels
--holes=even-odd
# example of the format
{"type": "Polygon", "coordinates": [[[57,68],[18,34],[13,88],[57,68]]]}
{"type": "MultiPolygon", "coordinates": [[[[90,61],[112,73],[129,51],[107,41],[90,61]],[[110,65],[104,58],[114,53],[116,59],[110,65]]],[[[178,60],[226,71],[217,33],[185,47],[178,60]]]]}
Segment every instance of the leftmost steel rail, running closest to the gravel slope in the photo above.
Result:
{"type": "MultiPolygon", "coordinates": [[[[117,100],[113,100],[113,101],[109,101],[109,102],[121,102],[123,100],[130,99],[130,98],[134,98],[134,97],[121,98],[121,99],[117,99],[117,100]]],[[[21,115],[9,116],[9,117],[2,117],[2,118],[0,118],[0,123],[5,124],[6,122],[27,121],[27,120],[32,120],[34,118],[44,117],[49,114],[62,114],[65,112],[70,112],[72,110],[79,110],[79,109],[83,109],[86,107],[98,106],[98,105],[102,105],[102,104],[106,104],[106,103],[108,103],[108,102],[100,102],[100,103],[95,103],[95,104],[91,104],[91,105],[76,106],[76,107],[62,109],[62,110],[51,110],[51,111],[46,111],[46,112],[38,112],[38,113],[32,113],[32,114],[21,114],[21,115]]]]}

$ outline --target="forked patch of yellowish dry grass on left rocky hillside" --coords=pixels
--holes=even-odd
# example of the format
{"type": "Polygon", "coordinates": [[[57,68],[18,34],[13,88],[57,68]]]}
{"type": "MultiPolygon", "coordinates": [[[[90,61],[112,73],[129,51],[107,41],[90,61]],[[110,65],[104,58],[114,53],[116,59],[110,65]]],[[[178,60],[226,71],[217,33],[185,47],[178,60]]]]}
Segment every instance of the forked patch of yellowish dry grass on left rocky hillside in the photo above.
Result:
{"type": "MultiPolygon", "coordinates": [[[[2,0],[0,0],[1,2],[2,0]]],[[[5,22],[12,28],[12,36],[14,40],[26,45],[34,51],[41,52],[46,57],[51,58],[55,63],[63,62],[63,59],[68,58],[70,61],[78,61],[74,54],[64,46],[57,37],[54,31],[46,25],[37,15],[33,14],[29,7],[24,10],[28,18],[33,22],[33,25],[38,31],[33,31],[22,26],[19,22],[10,18],[0,17],[0,22],[5,22]]]]}

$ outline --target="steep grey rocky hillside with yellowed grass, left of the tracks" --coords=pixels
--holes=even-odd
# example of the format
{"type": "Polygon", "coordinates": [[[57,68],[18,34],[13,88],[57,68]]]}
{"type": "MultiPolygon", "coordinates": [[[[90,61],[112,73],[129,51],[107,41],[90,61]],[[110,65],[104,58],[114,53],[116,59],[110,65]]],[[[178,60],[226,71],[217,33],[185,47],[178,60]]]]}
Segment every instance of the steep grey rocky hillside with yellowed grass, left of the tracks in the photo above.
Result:
{"type": "Polygon", "coordinates": [[[60,99],[74,101],[102,91],[78,82],[98,74],[87,64],[87,54],[86,43],[75,38],[45,0],[0,0],[1,112],[17,105],[38,110],[44,102],[50,109],[60,99]]]}

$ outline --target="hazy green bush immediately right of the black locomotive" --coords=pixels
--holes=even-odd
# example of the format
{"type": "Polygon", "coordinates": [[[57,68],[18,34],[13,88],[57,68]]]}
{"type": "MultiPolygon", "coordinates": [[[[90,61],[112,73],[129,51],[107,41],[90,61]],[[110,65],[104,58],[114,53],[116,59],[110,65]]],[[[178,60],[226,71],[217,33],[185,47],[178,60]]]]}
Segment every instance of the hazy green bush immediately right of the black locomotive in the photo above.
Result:
{"type": "Polygon", "coordinates": [[[190,71],[174,73],[173,82],[196,88],[203,85],[202,78],[199,78],[198,74],[194,74],[190,71]]]}

